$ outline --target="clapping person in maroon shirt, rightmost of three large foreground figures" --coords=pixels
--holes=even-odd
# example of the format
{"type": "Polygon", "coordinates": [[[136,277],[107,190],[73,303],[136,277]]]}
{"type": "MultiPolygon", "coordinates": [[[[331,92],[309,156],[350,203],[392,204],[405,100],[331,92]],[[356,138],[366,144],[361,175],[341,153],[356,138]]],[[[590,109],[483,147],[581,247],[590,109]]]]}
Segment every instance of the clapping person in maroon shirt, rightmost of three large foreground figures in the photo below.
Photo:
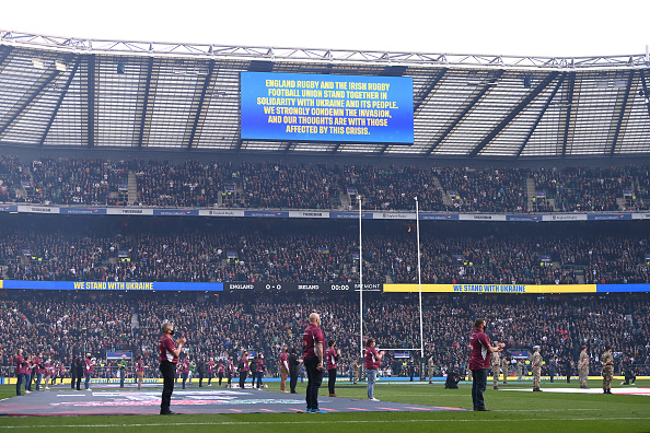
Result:
{"type": "Polygon", "coordinates": [[[500,352],[506,344],[500,343],[497,348],[490,344],[490,339],[485,333],[485,319],[477,318],[474,321],[474,331],[469,337],[472,353],[469,354],[469,370],[472,371],[472,402],[474,410],[489,411],[485,407],[483,393],[487,387],[487,375],[490,366],[490,354],[500,352]]]}

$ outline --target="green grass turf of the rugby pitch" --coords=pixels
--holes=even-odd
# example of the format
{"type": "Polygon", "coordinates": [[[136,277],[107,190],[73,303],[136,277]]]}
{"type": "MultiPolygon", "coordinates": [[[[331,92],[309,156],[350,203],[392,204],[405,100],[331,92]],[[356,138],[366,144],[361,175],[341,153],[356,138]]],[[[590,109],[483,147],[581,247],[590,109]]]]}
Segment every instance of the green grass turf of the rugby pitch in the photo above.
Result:
{"type": "MultiPolygon", "coordinates": [[[[491,382],[488,382],[491,385],[491,382]]],[[[503,389],[530,388],[531,383],[500,385],[503,389]]],[[[573,381],[543,383],[542,388],[578,387],[573,381]]],[[[600,388],[600,381],[589,386],[600,388]]],[[[637,381],[650,387],[650,381],[637,381]]],[[[615,386],[616,389],[625,387],[615,386]]],[[[279,390],[270,383],[269,390],[279,390]]],[[[304,391],[304,384],[299,384],[304,391]]],[[[321,388],[321,395],[327,387],[321,388]]],[[[0,397],[9,398],[15,386],[0,386],[0,397]]],[[[365,386],[339,385],[341,397],[365,398],[365,386]]],[[[472,409],[471,384],[460,389],[444,389],[442,384],[378,384],[375,397],[382,401],[445,406],[472,409]]],[[[336,429],[340,432],[650,432],[650,397],[625,395],[581,395],[556,393],[519,393],[492,390],[485,394],[491,412],[371,412],[371,413],[287,413],[287,414],[204,414],[204,416],[96,416],[96,417],[26,417],[0,418],[0,429],[10,431],[70,432],[313,432],[336,429]],[[9,429],[8,429],[9,428],[9,429]]],[[[172,400],[173,406],[173,400],[172,400]]],[[[172,409],[174,409],[172,407],[172,409]]]]}

